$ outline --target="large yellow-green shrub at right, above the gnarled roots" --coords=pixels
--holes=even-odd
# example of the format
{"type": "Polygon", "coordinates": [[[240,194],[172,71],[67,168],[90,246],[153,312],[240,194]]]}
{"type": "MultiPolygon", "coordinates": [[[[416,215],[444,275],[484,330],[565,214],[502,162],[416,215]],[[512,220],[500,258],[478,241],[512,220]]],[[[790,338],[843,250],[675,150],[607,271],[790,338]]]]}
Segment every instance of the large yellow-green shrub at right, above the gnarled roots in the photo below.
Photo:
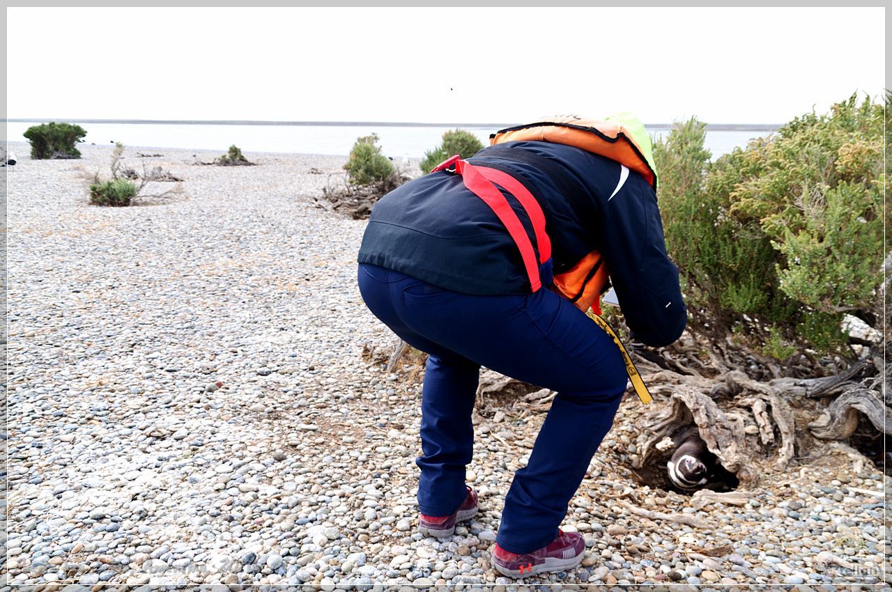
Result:
{"type": "Polygon", "coordinates": [[[693,328],[746,322],[772,355],[788,351],[780,335],[828,351],[843,313],[876,308],[883,123],[882,104],[853,95],[715,162],[696,119],[657,141],[666,247],[693,328]]]}

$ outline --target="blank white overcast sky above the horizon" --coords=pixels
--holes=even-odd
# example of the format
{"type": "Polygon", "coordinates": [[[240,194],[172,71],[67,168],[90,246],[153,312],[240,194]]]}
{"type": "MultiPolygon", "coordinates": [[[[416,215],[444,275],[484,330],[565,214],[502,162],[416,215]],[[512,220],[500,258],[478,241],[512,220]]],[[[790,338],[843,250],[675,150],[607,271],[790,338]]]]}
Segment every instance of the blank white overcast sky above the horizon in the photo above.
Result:
{"type": "Polygon", "coordinates": [[[9,8],[9,118],[782,123],[881,96],[883,8],[9,8]],[[41,41],[42,40],[42,41],[41,41]]]}

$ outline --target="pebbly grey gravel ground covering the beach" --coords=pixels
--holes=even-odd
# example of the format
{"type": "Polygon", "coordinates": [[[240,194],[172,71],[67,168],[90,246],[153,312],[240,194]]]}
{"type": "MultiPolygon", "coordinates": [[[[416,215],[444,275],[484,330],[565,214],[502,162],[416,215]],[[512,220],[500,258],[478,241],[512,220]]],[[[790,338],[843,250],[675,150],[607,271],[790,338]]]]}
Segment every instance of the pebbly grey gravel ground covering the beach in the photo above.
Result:
{"type": "MultiPolygon", "coordinates": [[[[149,160],[184,177],[183,193],[111,209],[88,205],[84,179],[109,147],[82,160],[12,150],[2,590],[520,589],[490,553],[543,415],[519,403],[475,415],[468,481],[481,513],[442,542],[415,532],[419,373],[363,358],[392,341],[355,286],[364,222],[312,201],[343,158],[248,154],[260,165],[219,168],[191,151],[128,149],[136,163],[162,152],[149,160]]],[[[870,463],[815,461],[766,478],[744,506],[695,511],[632,481],[638,410],[627,397],[571,503],[564,526],[585,536],[582,565],[522,583],[882,584],[887,483],[870,463]]]]}

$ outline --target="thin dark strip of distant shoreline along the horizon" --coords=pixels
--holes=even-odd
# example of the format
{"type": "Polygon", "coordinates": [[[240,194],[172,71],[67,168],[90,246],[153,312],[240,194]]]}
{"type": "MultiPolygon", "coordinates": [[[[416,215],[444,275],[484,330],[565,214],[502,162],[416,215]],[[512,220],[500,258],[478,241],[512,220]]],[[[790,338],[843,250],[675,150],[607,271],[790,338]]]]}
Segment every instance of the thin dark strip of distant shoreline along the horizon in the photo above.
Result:
{"type": "MultiPolygon", "coordinates": [[[[462,127],[465,129],[511,127],[513,123],[419,123],[415,121],[264,121],[253,119],[60,119],[31,118],[6,119],[10,123],[48,123],[50,121],[66,121],[68,123],[111,123],[128,125],[182,125],[182,126],[326,126],[326,127],[462,127]]],[[[645,127],[651,129],[670,129],[671,123],[650,123],[645,127]]],[[[707,123],[706,131],[775,131],[779,124],[761,123],[707,123]]]]}

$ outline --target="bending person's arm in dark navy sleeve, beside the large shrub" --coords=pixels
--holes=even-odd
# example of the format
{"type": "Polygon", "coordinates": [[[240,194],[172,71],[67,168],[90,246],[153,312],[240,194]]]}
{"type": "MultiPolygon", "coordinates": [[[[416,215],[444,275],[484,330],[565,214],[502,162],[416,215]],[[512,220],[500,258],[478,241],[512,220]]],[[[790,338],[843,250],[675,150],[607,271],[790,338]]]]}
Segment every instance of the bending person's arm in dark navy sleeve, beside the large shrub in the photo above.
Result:
{"type": "Polygon", "coordinates": [[[647,345],[669,345],[681,337],[688,313],[678,267],[666,255],[657,196],[630,171],[612,197],[599,196],[599,201],[599,247],[626,325],[647,345]]]}

